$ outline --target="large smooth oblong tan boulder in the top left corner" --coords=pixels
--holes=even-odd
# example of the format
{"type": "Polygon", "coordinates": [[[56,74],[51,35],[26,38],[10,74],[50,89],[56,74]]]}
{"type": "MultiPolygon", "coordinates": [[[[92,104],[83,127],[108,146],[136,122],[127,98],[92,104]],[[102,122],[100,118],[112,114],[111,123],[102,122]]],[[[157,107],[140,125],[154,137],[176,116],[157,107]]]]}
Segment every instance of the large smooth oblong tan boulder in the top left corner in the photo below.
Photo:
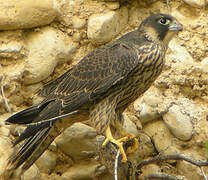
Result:
{"type": "Polygon", "coordinates": [[[50,24],[57,16],[53,0],[7,0],[0,3],[0,30],[50,24]]]}

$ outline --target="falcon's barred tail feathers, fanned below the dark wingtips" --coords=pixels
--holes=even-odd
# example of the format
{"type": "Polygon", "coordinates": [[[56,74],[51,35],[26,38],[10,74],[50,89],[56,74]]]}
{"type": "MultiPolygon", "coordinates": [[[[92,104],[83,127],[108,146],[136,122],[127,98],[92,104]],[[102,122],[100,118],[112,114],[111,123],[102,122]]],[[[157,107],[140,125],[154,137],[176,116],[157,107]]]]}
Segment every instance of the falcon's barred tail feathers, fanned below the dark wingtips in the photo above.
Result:
{"type": "Polygon", "coordinates": [[[14,143],[16,146],[23,142],[10,156],[8,168],[15,170],[22,165],[21,173],[24,173],[59,134],[54,131],[53,124],[54,122],[43,122],[29,125],[14,143]]]}

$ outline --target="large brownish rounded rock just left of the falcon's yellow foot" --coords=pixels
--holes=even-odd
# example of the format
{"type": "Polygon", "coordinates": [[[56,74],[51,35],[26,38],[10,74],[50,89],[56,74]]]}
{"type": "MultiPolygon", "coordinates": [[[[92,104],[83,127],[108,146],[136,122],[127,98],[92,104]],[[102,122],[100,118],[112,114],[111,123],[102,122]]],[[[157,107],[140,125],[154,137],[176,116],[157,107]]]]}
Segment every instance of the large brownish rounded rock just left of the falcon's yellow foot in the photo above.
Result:
{"type": "Polygon", "coordinates": [[[65,154],[78,161],[89,158],[96,150],[96,135],[95,129],[82,123],[75,123],[56,138],[55,142],[65,154]]]}

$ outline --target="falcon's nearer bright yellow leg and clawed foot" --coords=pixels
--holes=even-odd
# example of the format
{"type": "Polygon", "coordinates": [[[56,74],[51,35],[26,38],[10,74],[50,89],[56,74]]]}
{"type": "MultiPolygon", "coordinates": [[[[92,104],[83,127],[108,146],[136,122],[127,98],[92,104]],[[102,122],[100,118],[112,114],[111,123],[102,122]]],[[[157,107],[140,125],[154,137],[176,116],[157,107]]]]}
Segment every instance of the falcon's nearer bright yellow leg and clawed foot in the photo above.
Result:
{"type": "Polygon", "coordinates": [[[111,130],[110,130],[110,126],[107,127],[107,129],[105,131],[105,135],[106,135],[106,139],[103,142],[102,146],[105,146],[106,144],[108,144],[108,142],[112,142],[112,143],[116,144],[118,146],[119,150],[120,150],[121,155],[122,155],[122,160],[121,161],[126,162],[127,157],[126,157],[126,153],[124,151],[123,145],[122,145],[123,141],[116,140],[116,139],[113,138],[111,130]]]}

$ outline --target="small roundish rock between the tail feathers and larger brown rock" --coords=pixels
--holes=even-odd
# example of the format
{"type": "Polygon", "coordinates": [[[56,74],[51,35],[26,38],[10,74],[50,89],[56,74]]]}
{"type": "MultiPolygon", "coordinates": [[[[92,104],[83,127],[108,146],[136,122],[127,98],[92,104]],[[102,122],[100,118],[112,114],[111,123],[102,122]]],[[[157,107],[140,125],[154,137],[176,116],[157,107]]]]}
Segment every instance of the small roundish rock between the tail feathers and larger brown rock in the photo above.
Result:
{"type": "Polygon", "coordinates": [[[35,164],[41,173],[50,174],[55,169],[56,159],[57,155],[55,153],[46,150],[35,164]]]}

